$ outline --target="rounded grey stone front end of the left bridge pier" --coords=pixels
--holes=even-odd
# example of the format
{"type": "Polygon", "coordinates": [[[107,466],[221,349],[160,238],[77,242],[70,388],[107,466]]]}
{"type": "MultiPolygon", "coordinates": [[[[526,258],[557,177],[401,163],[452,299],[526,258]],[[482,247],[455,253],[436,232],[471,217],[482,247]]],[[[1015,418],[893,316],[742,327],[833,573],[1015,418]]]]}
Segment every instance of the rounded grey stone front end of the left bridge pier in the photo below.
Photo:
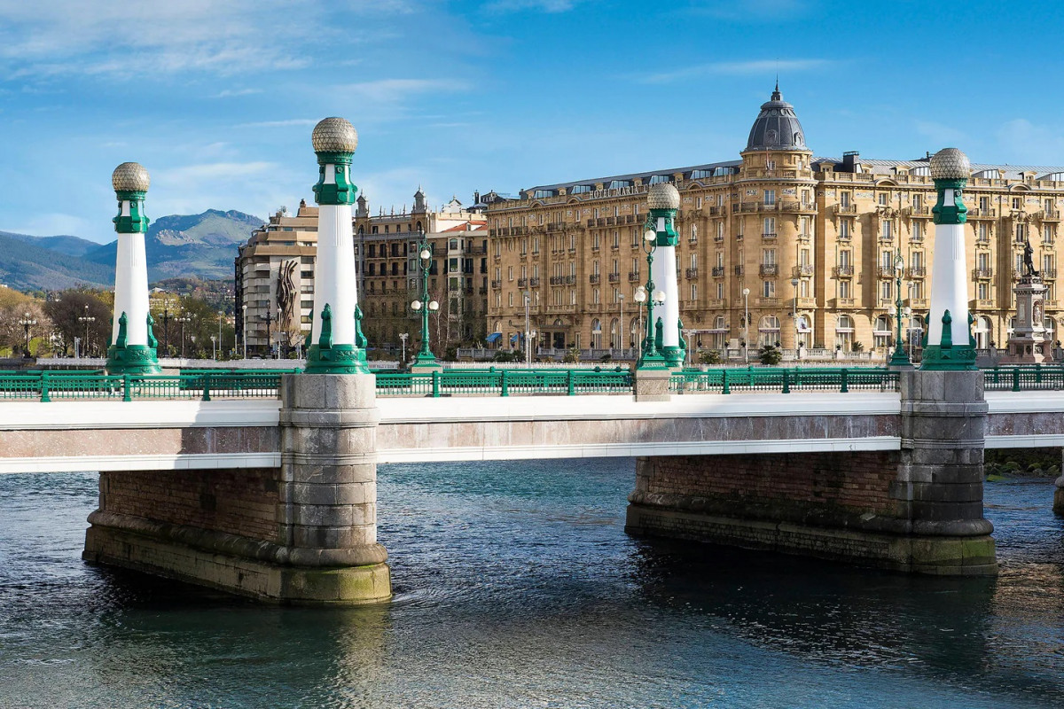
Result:
{"type": "Polygon", "coordinates": [[[390,596],[377,543],[377,408],[371,374],[285,375],[281,543],[286,597],[356,604],[390,596]]]}

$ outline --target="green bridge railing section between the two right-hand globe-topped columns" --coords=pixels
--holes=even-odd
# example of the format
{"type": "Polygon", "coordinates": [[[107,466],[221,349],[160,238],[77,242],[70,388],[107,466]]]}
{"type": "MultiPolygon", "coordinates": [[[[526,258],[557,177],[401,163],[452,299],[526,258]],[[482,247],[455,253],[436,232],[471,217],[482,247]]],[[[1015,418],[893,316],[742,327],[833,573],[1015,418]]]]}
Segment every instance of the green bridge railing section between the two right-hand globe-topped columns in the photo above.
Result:
{"type": "Polygon", "coordinates": [[[684,370],[669,377],[669,391],[679,394],[734,391],[897,391],[898,373],[882,368],[719,368],[684,370]]]}

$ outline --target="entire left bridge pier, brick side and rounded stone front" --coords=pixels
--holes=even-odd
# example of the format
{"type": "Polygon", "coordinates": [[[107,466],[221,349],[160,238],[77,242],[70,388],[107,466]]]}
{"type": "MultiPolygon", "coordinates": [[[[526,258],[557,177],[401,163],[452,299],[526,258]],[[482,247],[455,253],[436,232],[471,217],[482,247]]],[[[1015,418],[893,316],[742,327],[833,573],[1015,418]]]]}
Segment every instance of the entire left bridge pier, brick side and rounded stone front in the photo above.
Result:
{"type": "Polygon", "coordinates": [[[101,472],[83,556],[281,603],[387,600],[379,420],[370,374],[285,375],[280,468],[101,472]]]}

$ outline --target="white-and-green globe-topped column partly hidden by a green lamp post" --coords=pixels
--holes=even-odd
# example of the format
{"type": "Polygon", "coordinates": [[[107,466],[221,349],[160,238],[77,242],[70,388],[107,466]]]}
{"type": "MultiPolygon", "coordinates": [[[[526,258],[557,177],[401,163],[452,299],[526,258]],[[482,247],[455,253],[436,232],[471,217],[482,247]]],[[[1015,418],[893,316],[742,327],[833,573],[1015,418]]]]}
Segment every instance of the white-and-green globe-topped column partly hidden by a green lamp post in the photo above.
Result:
{"type": "Polygon", "coordinates": [[[680,208],[680,192],[670,182],[652,185],[647,195],[647,206],[650,209],[647,227],[658,235],[650,277],[665,293],[665,302],[656,314],[662,321],[662,354],[670,368],[682,367],[684,351],[680,339],[680,287],[676,278],[676,246],[679,235],[674,223],[676,210],[680,208]]]}

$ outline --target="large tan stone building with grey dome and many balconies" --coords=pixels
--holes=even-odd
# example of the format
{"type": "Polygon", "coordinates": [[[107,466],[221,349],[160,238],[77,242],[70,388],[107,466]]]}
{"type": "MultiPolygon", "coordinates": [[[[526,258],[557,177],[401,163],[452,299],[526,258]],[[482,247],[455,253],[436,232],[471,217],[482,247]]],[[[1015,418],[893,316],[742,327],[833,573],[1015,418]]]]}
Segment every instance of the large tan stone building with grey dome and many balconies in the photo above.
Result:
{"type": "MultiPolygon", "coordinates": [[[[894,261],[904,259],[909,340],[918,347],[933,261],[929,157],[817,157],[779,91],[737,161],[543,185],[488,205],[487,332],[523,331],[525,293],[539,347],[629,348],[642,339],[633,294],[651,184],[680,190],[680,317],[691,344],[877,349],[895,339],[894,261]],[[774,114],[775,112],[775,114],[774,114]],[[785,135],[784,135],[785,134],[785,135]],[[748,292],[747,292],[748,291],[748,292]],[[797,310],[797,321],[794,313],[797,310]],[[747,317],[749,315],[749,317],[747,317]],[[634,331],[634,332],[633,332],[634,331]]],[[[964,192],[968,297],[979,348],[1003,347],[1029,238],[1058,339],[1057,241],[1064,167],[972,166],[964,192]]]]}

